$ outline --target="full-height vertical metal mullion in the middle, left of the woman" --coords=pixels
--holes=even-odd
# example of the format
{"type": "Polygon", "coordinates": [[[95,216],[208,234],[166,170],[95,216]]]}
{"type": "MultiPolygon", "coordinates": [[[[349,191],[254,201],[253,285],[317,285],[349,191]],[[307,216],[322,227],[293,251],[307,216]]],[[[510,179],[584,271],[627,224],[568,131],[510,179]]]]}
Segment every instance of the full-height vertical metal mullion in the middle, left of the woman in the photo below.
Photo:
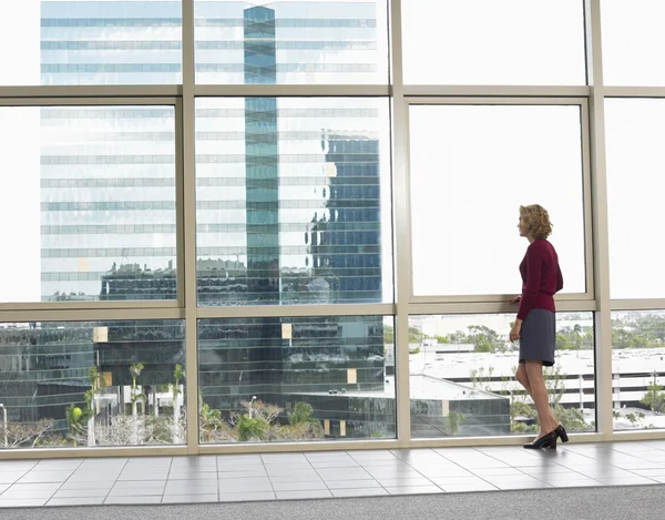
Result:
{"type": "Polygon", "coordinates": [[[409,140],[408,104],[405,100],[402,68],[401,0],[390,0],[390,70],[392,83],[392,236],[395,316],[395,384],[397,439],[411,443],[411,390],[409,387],[409,299],[411,296],[411,225],[407,146],[409,140]]]}

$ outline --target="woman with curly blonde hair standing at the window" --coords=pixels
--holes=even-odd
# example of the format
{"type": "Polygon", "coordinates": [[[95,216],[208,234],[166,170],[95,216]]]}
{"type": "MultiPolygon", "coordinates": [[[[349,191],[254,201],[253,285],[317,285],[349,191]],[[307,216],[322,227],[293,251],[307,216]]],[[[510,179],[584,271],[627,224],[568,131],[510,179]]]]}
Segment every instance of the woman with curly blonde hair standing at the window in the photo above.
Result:
{"type": "Polygon", "coordinates": [[[510,340],[520,340],[520,365],[515,378],[533,399],[540,422],[540,432],[526,449],[556,448],[567,435],[559,424],[548,397],[543,366],[554,365],[556,316],[554,294],[563,288],[559,257],[548,237],[552,234],[550,215],[540,205],[520,206],[520,236],[529,239],[524,259],[520,264],[522,296],[510,300],[520,304],[510,340]]]}

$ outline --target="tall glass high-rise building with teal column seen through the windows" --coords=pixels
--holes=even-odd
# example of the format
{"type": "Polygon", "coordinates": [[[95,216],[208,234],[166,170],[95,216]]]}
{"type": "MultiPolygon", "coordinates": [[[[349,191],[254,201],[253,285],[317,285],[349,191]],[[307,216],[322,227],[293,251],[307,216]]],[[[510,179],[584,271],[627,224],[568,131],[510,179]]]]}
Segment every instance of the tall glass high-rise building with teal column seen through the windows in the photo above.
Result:
{"type": "MultiPolygon", "coordinates": [[[[181,81],[177,2],[93,3],[42,2],[42,83],[181,81]],[[151,41],[132,38],[146,26],[157,29],[151,41]]],[[[376,82],[362,60],[330,59],[376,52],[371,8],[352,6],[339,18],[332,4],[206,3],[197,77],[275,84],[344,72],[376,82]]],[[[316,100],[229,103],[196,112],[200,304],[381,302],[379,141],[347,130],[357,114],[376,115],[316,100]],[[208,143],[223,149],[206,153],[208,143]]],[[[174,299],[175,110],[44,108],[41,128],[42,299],[174,299]]],[[[127,385],[137,361],[143,385],[171,381],[183,344],[162,348],[168,327],[151,335],[102,325],[108,334],[91,363],[113,385],[127,385]]],[[[370,435],[342,392],[382,391],[382,359],[380,317],[200,324],[205,402],[231,411],[255,395],[287,409],[304,400],[320,419],[349,420],[330,435],[370,435]]],[[[85,388],[73,366],[62,378],[85,388]]]]}

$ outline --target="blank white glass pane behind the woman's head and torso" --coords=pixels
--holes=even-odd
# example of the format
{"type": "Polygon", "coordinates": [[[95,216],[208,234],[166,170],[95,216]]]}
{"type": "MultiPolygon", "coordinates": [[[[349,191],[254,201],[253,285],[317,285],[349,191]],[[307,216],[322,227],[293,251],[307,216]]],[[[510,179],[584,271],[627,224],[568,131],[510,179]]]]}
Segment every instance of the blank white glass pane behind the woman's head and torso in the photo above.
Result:
{"type": "Polygon", "coordinates": [[[585,292],[579,106],[410,108],[413,292],[519,294],[519,207],[554,224],[564,292],[585,292]]]}

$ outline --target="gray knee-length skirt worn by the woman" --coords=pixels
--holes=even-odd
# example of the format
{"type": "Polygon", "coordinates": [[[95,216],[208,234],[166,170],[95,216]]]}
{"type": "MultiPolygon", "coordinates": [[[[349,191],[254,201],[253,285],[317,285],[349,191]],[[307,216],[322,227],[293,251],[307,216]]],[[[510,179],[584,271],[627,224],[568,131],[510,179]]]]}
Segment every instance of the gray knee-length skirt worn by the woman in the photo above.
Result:
{"type": "Polygon", "coordinates": [[[522,322],[520,335],[520,363],[543,361],[554,365],[556,345],[556,315],[544,308],[532,308],[522,322]]]}

